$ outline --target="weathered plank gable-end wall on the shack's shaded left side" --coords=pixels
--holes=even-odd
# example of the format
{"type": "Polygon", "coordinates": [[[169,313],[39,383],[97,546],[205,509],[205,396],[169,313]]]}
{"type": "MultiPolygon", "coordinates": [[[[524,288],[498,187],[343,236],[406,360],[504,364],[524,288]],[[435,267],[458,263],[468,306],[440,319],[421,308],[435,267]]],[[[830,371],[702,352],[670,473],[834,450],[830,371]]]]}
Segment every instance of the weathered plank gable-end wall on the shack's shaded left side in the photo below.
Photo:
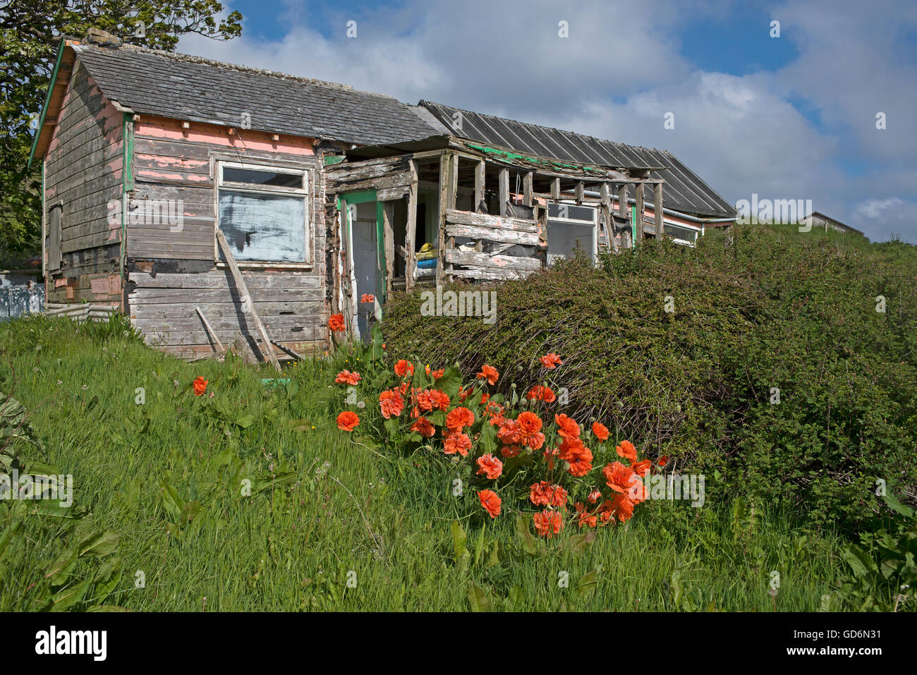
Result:
{"type": "Polygon", "coordinates": [[[122,113],[77,62],[45,164],[46,217],[62,206],[61,269],[46,282],[51,303],[120,302],[121,225],[108,204],[121,198],[122,129],[122,113]]]}

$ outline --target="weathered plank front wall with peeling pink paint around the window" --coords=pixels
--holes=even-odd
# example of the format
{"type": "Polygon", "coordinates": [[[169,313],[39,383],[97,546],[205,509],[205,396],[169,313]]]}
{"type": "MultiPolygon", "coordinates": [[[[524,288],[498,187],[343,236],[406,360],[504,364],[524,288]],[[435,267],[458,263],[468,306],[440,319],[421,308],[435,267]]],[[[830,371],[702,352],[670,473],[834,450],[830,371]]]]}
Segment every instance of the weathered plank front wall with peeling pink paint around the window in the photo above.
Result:
{"type": "MultiPolygon", "coordinates": [[[[215,254],[212,159],[286,163],[310,174],[310,268],[244,269],[252,304],[271,339],[297,352],[327,349],[325,176],[311,138],[142,116],[134,123],[133,200],[181,200],[182,224],[129,219],[128,307],[150,345],[184,357],[212,355],[200,307],[225,345],[260,358],[251,316],[243,312],[231,272],[215,254]]],[[[132,202],[133,204],[133,202],[132,202]]],[[[282,354],[280,350],[275,351],[282,354]]]]}

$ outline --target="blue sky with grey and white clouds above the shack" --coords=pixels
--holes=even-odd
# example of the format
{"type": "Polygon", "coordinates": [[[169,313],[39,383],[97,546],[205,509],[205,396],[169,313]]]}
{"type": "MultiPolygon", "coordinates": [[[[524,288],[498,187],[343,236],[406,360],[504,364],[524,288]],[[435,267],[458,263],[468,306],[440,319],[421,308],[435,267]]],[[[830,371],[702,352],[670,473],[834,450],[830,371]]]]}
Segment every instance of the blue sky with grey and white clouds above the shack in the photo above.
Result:
{"type": "Polygon", "coordinates": [[[240,38],[178,50],[667,149],[734,205],[811,200],[917,244],[913,0],[224,6],[240,38]]]}

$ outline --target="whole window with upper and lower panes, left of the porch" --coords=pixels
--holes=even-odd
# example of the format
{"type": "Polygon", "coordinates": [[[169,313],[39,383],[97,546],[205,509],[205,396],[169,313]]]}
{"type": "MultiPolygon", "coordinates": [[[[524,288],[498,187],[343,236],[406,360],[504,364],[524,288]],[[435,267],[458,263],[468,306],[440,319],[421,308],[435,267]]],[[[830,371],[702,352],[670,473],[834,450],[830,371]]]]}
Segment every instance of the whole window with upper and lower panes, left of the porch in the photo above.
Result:
{"type": "Polygon", "coordinates": [[[229,161],[216,169],[216,223],[233,258],[249,264],[312,262],[307,170],[229,161]]]}

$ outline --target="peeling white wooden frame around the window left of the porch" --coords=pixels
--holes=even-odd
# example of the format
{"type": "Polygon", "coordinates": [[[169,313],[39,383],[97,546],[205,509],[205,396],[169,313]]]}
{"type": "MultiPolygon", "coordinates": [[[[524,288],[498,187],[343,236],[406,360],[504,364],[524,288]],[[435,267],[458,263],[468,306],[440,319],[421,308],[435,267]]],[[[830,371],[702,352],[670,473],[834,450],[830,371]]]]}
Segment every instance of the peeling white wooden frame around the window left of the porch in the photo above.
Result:
{"type": "MultiPolygon", "coordinates": [[[[253,158],[254,159],[254,158],[253,158]]],[[[304,213],[304,260],[236,260],[239,268],[284,268],[291,270],[309,270],[315,267],[313,260],[312,247],[312,190],[315,185],[315,176],[313,169],[304,166],[293,166],[282,161],[273,162],[269,159],[258,158],[254,161],[244,161],[238,159],[226,160],[219,157],[214,160],[214,260],[218,268],[226,268],[226,261],[220,260],[220,246],[216,240],[216,231],[220,227],[220,190],[226,190],[234,193],[260,194],[280,197],[300,197],[303,199],[304,213]],[[301,175],[303,178],[303,187],[294,188],[282,185],[260,185],[258,183],[238,183],[236,181],[226,181],[223,178],[223,170],[229,169],[246,169],[249,171],[271,172],[271,173],[291,173],[301,175]]]]}

